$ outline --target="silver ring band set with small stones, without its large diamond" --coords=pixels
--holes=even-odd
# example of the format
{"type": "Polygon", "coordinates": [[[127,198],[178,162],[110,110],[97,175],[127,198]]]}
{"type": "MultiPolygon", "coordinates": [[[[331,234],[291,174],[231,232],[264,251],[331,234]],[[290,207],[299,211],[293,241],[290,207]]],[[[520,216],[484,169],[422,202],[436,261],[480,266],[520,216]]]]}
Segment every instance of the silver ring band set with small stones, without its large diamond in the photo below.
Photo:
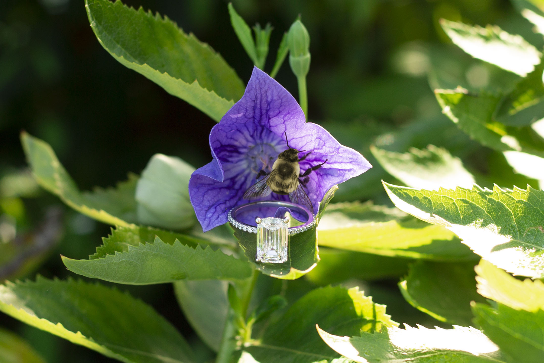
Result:
{"type": "MultiPolygon", "coordinates": [[[[243,204],[243,205],[234,207],[228,212],[228,216],[227,216],[228,222],[230,222],[230,224],[233,227],[239,230],[250,232],[250,233],[257,233],[256,224],[249,225],[249,224],[240,222],[240,220],[238,220],[239,214],[248,212],[248,210],[255,210],[255,213],[258,214],[259,208],[265,208],[265,207],[269,207],[272,209],[284,207],[289,209],[291,213],[295,212],[302,216],[304,215],[307,216],[307,220],[304,224],[299,226],[289,227],[287,229],[287,233],[289,235],[295,235],[296,233],[307,231],[308,229],[312,228],[316,224],[316,216],[314,216],[313,213],[308,211],[305,207],[298,204],[291,203],[291,202],[284,202],[280,200],[257,201],[257,202],[251,202],[248,204],[243,204]]],[[[274,217],[274,216],[264,216],[264,215],[259,216],[256,214],[253,214],[253,216],[251,217],[251,223],[255,223],[254,222],[255,217],[260,217],[260,218],[274,217]]]]}

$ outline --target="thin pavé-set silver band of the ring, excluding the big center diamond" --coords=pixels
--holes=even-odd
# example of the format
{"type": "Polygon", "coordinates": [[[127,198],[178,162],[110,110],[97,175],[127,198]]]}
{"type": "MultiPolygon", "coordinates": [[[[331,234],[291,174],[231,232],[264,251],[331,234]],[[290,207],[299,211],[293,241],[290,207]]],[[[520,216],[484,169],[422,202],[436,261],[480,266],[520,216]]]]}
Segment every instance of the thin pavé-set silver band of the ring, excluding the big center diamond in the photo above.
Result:
{"type": "Polygon", "coordinates": [[[228,212],[227,218],[228,222],[230,222],[233,227],[244,232],[257,233],[257,224],[255,222],[255,218],[276,217],[277,210],[282,207],[288,210],[286,212],[295,214],[296,217],[302,216],[307,218],[305,223],[299,226],[289,227],[287,229],[287,233],[289,235],[295,235],[296,233],[307,231],[316,224],[316,217],[304,206],[279,200],[257,201],[239,205],[232,208],[228,212]],[[244,213],[250,213],[251,211],[254,211],[254,213],[249,214],[249,217],[244,216],[244,213]],[[274,213],[272,216],[264,215],[272,213],[274,213]],[[254,225],[250,225],[249,223],[254,225]]]}

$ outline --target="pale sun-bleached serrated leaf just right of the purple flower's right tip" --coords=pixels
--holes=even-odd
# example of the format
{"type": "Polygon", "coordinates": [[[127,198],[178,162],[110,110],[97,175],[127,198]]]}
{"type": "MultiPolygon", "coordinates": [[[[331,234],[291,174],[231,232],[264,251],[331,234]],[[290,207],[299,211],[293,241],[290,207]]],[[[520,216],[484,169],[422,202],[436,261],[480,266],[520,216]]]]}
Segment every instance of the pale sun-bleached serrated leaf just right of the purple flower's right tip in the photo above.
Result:
{"type": "Polygon", "coordinates": [[[474,177],[463,167],[461,159],[443,147],[429,145],[423,150],[410,147],[408,152],[399,153],[372,145],[370,151],[387,173],[409,187],[468,188],[474,184],[474,177]]]}

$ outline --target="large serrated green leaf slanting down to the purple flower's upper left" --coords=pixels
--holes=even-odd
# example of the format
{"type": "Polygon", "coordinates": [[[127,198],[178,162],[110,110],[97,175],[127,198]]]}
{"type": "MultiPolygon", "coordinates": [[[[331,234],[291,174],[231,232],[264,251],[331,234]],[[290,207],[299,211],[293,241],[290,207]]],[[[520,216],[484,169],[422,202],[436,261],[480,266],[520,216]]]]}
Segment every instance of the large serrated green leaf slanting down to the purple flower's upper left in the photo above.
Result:
{"type": "Polygon", "coordinates": [[[168,17],[119,0],[86,0],[100,44],[126,67],[219,121],[244,93],[236,72],[218,53],[168,17]]]}

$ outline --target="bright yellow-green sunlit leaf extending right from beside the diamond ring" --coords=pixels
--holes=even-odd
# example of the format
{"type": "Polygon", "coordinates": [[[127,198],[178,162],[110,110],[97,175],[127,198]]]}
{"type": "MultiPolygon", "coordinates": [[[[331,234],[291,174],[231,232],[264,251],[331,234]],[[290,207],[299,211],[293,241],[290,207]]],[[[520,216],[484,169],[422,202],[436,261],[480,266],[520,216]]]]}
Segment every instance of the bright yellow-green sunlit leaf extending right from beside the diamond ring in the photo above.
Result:
{"type": "Polygon", "coordinates": [[[330,205],[318,226],[319,246],[389,257],[474,260],[453,232],[384,206],[369,203],[330,205]]]}

